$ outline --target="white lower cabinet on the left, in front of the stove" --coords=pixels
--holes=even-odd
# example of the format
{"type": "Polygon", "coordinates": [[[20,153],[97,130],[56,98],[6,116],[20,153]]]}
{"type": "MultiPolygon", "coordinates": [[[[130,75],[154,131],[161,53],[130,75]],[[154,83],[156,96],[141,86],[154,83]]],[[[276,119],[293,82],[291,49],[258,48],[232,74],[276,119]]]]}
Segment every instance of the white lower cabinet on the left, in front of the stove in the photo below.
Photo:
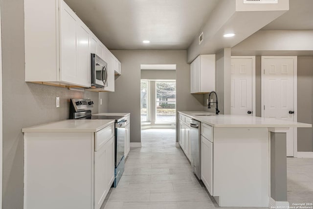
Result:
{"type": "Polygon", "coordinates": [[[114,124],[24,133],[24,209],[100,209],[114,181],[114,124]]]}

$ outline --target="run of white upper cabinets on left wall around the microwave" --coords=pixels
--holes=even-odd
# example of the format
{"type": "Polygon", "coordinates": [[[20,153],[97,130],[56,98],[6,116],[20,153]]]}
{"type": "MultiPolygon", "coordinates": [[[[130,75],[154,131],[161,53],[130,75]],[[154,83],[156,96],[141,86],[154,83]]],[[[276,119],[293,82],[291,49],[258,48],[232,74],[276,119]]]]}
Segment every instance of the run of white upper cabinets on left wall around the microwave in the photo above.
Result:
{"type": "Polygon", "coordinates": [[[114,92],[120,62],[63,0],[24,0],[24,25],[25,81],[90,87],[90,53],[105,61],[108,53],[116,63],[106,61],[112,69],[110,86],[99,91],[114,92]]]}

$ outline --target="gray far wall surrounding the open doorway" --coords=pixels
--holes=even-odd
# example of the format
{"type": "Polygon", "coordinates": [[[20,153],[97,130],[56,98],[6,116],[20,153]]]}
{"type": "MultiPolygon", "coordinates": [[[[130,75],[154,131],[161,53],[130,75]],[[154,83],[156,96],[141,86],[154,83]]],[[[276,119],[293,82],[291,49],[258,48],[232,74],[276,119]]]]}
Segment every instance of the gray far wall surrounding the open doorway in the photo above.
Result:
{"type": "Polygon", "coordinates": [[[203,95],[190,94],[190,65],[185,50],[112,50],[112,53],[122,63],[122,75],[115,79],[115,93],[109,93],[109,109],[131,113],[131,142],[141,141],[141,64],[176,64],[177,110],[203,110],[203,95]]]}

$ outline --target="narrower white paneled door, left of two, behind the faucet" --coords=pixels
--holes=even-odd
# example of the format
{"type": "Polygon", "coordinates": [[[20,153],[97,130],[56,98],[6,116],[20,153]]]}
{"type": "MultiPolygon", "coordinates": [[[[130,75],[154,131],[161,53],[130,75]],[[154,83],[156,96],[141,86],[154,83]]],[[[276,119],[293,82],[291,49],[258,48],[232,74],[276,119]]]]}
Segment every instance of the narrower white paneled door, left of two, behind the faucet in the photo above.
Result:
{"type": "Polygon", "coordinates": [[[255,57],[232,56],[230,114],[252,116],[255,112],[255,57]]]}

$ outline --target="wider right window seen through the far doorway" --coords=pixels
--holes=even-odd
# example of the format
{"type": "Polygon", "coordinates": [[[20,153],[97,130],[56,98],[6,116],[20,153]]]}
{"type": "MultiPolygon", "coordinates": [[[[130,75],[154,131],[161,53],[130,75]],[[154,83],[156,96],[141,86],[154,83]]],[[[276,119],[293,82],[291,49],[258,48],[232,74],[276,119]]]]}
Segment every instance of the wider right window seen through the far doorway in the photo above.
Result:
{"type": "Polygon", "coordinates": [[[156,122],[176,121],[176,82],[156,81],[156,122]]]}

